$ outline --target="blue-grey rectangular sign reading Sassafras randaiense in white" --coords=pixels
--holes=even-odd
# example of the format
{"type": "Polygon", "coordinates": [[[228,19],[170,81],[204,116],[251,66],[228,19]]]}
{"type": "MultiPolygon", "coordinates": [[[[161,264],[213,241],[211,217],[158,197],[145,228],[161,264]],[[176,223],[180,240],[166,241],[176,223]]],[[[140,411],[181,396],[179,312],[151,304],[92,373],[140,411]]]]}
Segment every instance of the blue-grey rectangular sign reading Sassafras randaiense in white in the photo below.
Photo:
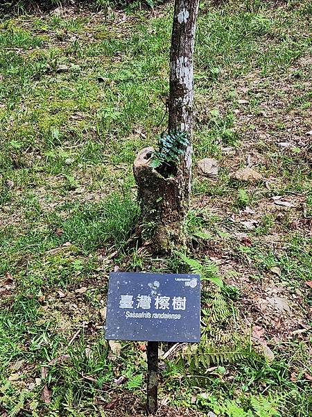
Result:
{"type": "Polygon", "coordinates": [[[112,272],[105,338],[198,343],[199,275],[112,272]]]}

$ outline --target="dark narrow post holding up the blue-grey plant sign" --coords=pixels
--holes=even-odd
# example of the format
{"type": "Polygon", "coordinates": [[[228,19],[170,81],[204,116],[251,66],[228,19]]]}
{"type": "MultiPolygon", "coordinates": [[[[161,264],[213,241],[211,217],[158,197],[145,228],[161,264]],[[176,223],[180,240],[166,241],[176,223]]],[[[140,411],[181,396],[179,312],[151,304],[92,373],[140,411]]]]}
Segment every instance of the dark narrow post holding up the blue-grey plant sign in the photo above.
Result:
{"type": "Polygon", "coordinates": [[[147,362],[147,411],[148,414],[155,414],[157,411],[158,342],[148,342],[147,362]]]}

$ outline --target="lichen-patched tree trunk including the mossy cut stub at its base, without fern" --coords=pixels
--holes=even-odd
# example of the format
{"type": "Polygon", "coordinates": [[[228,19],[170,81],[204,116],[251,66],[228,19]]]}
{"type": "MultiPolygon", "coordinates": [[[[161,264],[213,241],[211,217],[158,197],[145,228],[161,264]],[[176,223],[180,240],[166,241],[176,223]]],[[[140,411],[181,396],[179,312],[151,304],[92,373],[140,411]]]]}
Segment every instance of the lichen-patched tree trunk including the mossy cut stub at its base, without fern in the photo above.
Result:
{"type": "Polygon", "coordinates": [[[150,167],[153,148],[139,152],[134,174],[141,202],[142,230],[150,231],[155,252],[185,245],[184,221],[191,193],[193,50],[199,0],[175,0],[170,58],[168,131],[186,132],[189,145],[174,170],[150,167]]]}

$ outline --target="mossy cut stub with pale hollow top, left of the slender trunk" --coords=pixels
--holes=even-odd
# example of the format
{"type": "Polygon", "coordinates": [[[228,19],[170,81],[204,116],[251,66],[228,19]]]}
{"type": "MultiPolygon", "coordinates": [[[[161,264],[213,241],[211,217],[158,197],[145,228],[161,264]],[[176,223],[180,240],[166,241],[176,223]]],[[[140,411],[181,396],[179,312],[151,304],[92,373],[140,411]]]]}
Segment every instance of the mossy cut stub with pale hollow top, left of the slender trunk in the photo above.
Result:
{"type": "Polygon", "coordinates": [[[187,208],[182,171],[164,178],[150,167],[153,147],[142,149],[133,165],[141,204],[141,233],[151,240],[155,252],[171,252],[184,243],[184,215],[187,208]]]}

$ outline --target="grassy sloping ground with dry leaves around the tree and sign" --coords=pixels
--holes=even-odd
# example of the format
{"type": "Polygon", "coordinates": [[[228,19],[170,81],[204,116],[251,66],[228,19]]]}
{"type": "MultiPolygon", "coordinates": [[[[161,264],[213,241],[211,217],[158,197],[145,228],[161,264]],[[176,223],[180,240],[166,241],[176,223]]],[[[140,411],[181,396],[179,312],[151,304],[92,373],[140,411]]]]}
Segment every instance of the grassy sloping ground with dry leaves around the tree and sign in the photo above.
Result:
{"type": "MultiPolygon", "coordinates": [[[[133,233],[132,161],[166,128],[171,13],[1,22],[1,416],[144,414],[145,345],[112,352],[103,320],[111,270],[188,268],[133,233]]],[[[159,416],[311,413],[311,13],[200,6],[194,163],[219,167],[195,170],[187,222],[203,343],[199,363],[184,346],[161,362],[159,416]]]]}

